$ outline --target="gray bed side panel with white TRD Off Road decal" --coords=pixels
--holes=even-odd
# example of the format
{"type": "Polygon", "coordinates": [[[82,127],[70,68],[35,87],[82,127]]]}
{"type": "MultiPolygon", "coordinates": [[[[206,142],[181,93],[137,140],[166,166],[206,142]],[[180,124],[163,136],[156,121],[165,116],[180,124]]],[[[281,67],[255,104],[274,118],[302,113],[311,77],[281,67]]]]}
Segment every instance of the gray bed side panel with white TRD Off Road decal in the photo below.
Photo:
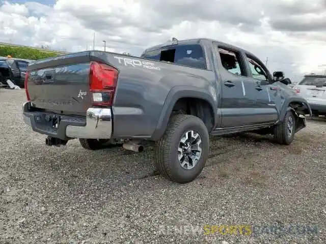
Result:
{"type": "MultiPolygon", "coordinates": [[[[91,54],[92,55],[92,54],[91,54]]],[[[205,93],[216,108],[215,73],[180,65],[112,53],[98,53],[119,70],[113,106],[115,138],[151,138],[169,105],[184,91],[205,93]]],[[[164,127],[164,123],[162,123],[164,127]]]]}

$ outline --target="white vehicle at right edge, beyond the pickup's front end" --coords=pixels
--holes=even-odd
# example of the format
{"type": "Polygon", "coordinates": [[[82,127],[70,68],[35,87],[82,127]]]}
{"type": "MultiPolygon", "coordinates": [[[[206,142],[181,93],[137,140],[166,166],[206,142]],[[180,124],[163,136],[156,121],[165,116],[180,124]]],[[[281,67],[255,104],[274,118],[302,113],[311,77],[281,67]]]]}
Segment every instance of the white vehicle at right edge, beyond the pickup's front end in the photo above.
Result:
{"type": "Polygon", "coordinates": [[[308,101],[313,116],[326,115],[326,75],[305,75],[292,89],[308,101]]]}

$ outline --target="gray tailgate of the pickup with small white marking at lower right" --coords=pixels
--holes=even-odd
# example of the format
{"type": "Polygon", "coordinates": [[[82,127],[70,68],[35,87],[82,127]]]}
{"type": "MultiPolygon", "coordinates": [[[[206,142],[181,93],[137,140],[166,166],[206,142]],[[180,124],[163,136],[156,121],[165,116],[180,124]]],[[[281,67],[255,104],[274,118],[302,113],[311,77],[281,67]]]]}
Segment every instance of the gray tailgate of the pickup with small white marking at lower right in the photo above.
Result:
{"type": "Polygon", "coordinates": [[[27,89],[33,107],[84,114],[91,106],[90,52],[42,59],[29,65],[27,89]]]}

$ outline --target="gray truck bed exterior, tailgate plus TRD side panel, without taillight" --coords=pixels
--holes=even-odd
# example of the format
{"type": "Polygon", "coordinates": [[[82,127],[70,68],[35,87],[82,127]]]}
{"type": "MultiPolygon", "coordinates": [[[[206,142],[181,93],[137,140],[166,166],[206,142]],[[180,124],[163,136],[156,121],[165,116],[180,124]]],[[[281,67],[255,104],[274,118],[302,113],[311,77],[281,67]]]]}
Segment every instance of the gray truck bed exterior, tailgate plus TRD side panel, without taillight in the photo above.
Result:
{"type": "Polygon", "coordinates": [[[177,90],[191,89],[203,94],[209,91],[210,97],[216,94],[212,71],[111,52],[85,51],[46,58],[31,63],[28,70],[27,89],[32,107],[68,116],[86,116],[90,107],[110,107],[113,124],[119,125],[113,134],[120,138],[151,137],[162,122],[165,103],[171,102],[167,101],[168,95],[172,99],[177,90]],[[110,106],[92,104],[92,62],[118,71],[110,106]]]}

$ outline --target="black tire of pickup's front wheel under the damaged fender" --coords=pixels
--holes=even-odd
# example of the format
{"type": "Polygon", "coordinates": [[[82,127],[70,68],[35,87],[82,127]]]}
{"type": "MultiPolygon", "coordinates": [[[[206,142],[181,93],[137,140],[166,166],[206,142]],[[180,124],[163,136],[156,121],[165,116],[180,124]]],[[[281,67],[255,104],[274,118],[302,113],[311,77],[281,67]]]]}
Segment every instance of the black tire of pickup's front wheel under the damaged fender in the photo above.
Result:
{"type": "Polygon", "coordinates": [[[295,126],[295,115],[292,111],[287,111],[282,124],[279,124],[275,127],[274,139],[276,140],[276,142],[283,145],[290,145],[294,139],[295,126]],[[288,123],[290,122],[290,120],[293,121],[291,133],[288,128],[288,123]]]}

